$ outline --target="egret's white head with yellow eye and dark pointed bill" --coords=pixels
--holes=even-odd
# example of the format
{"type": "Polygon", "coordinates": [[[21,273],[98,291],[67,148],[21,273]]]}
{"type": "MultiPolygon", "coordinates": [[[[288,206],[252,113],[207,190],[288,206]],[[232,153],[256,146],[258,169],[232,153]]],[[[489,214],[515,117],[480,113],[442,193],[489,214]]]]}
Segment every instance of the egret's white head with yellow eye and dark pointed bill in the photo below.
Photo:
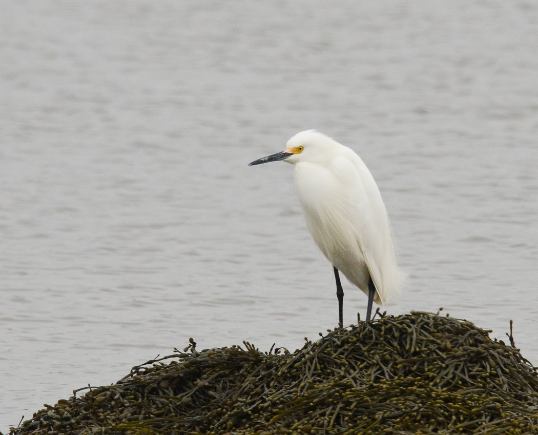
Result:
{"type": "Polygon", "coordinates": [[[337,143],[330,137],[315,130],[301,131],[289,139],[284,151],[254,160],[254,162],[249,163],[249,166],[278,162],[278,160],[291,164],[324,160],[330,156],[335,144],[337,143]]]}

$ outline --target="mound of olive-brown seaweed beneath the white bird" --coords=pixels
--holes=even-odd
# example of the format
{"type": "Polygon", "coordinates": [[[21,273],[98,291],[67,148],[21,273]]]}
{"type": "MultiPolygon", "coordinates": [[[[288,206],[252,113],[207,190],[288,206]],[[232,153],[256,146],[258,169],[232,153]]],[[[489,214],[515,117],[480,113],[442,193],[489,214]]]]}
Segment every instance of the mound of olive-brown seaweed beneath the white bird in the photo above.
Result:
{"type": "Polygon", "coordinates": [[[469,321],[378,314],[302,349],[184,352],[34,414],[22,434],[538,433],[538,369],[469,321]]]}

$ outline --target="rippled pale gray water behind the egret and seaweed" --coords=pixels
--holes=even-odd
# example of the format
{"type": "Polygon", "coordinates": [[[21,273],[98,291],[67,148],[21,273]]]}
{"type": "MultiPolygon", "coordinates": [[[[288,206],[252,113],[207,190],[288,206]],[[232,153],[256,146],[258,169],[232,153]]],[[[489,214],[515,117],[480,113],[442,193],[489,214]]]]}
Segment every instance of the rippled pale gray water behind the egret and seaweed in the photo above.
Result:
{"type": "MultiPolygon", "coordinates": [[[[4,2],[0,431],[132,366],[337,322],[292,167],[315,128],[383,194],[390,314],[491,328],[538,363],[538,4],[4,2]]],[[[346,283],[344,321],[366,298],[346,283]]]]}

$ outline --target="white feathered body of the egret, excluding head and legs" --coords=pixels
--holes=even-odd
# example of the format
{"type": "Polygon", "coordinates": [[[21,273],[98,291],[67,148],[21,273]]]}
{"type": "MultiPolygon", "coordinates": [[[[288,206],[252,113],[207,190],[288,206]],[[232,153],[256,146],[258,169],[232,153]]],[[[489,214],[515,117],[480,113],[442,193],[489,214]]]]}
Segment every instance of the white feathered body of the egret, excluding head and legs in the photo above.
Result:
{"type": "Polygon", "coordinates": [[[366,294],[371,276],[374,300],[383,304],[398,291],[387,212],[370,171],[349,151],[327,165],[297,163],[295,185],[308,229],[325,257],[366,294]]]}

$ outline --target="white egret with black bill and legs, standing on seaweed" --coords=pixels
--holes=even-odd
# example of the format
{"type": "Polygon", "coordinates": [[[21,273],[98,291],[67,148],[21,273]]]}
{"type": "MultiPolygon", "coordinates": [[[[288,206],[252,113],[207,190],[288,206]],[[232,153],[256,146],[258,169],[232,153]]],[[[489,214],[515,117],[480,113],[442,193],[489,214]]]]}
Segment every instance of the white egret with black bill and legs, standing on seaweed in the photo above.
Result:
{"type": "Polygon", "coordinates": [[[315,130],[296,134],[286,150],[249,166],[278,160],[294,165],[307,227],[332,264],[340,324],[344,292],[338,271],[367,294],[370,320],[372,302],[383,305],[400,291],[402,280],[387,210],[372,174],[350,148],[315,130]]]}

